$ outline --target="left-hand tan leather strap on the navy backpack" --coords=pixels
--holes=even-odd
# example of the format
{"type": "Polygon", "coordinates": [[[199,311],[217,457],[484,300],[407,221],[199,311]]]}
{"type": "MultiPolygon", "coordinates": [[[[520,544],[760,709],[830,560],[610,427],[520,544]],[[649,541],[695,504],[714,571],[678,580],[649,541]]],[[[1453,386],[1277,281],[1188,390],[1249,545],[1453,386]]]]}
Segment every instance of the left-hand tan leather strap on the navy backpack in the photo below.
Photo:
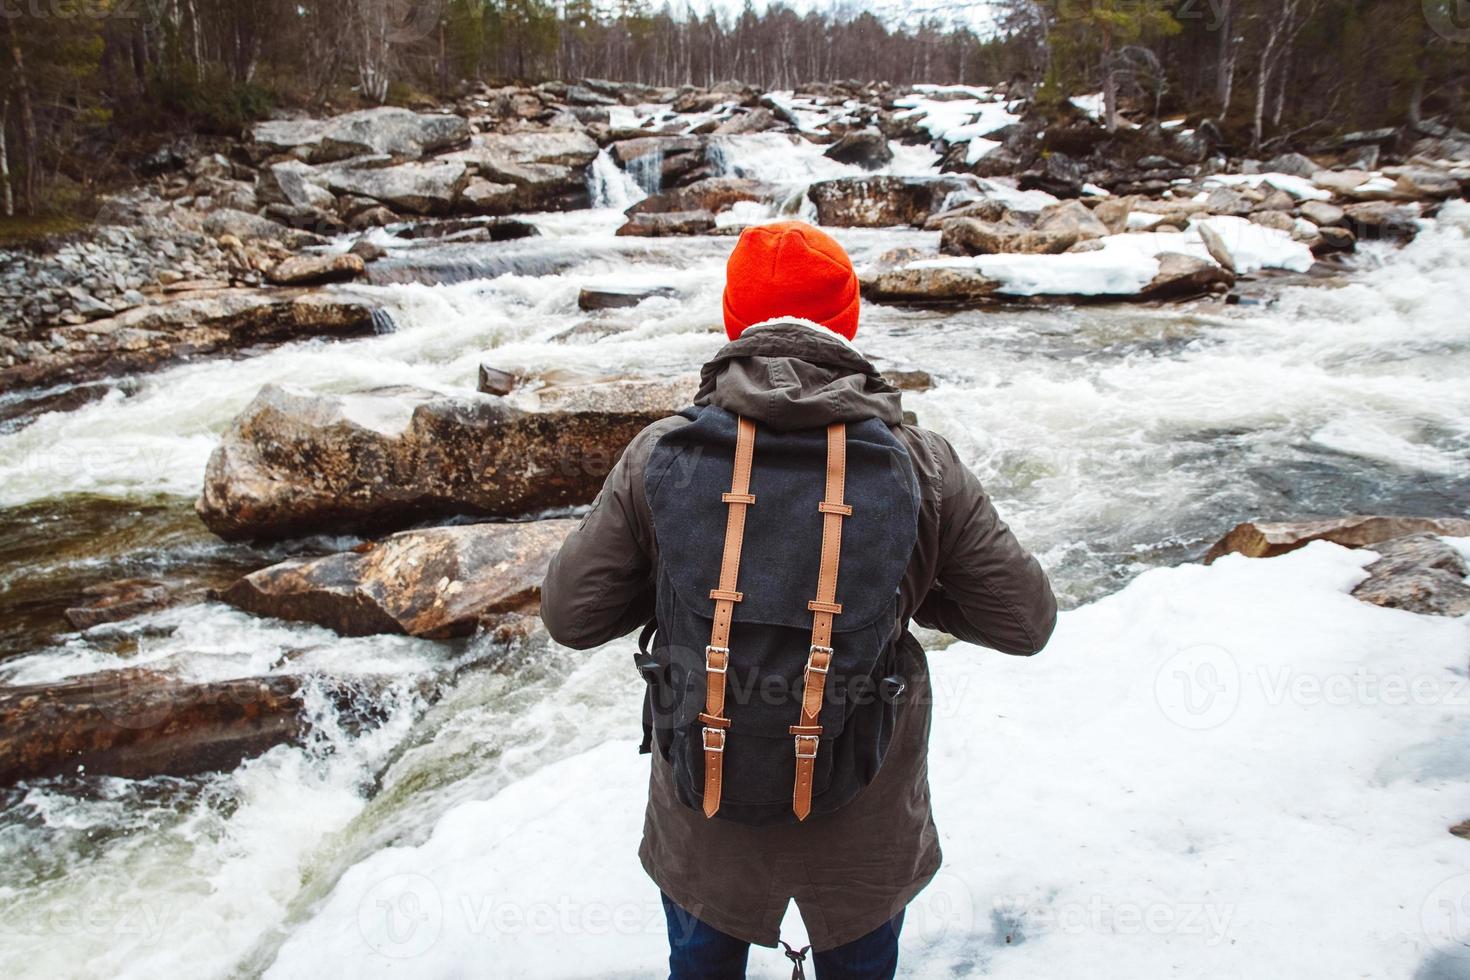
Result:
{"type": "Polygon", "coordinates": [[[725,555],[720,558],[720,585],[710,589],[714,599],[714,623],[710,627],[710,645],[704,648],[704,815],[713,817],[720,808],[720,786],[725,773],[725,732],[731,720],[725,717],[725,671],[731,658],[731,620],[735,604],[744,597],[735,591],[739,585],[739,551],[745,541],[745,508],[756,502],[750,492],[750,470],[756,460],[756,423],[739,419],[735,435],[735,475],[731,478],[731,492],[720,500],[729,505],[725,519],[725,555]]]}

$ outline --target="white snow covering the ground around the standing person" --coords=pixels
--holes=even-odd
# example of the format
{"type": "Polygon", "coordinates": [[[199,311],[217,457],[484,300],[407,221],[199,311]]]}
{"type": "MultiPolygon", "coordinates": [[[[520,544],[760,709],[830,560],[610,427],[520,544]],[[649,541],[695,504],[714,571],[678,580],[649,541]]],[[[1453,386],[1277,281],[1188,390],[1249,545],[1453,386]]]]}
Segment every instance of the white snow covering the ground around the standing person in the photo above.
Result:
{"type": "MultiPolygon", "coordinates": [[[[1157,569],[1038,658],[932,652],[945,864],[903,976],[1470,976],[1470,620],[1352,599],[1372,560],[1157,569]]],[[[647,765],[609,742],[460,804],[347,871],[268,976],[657,976],[647,765]]]]}

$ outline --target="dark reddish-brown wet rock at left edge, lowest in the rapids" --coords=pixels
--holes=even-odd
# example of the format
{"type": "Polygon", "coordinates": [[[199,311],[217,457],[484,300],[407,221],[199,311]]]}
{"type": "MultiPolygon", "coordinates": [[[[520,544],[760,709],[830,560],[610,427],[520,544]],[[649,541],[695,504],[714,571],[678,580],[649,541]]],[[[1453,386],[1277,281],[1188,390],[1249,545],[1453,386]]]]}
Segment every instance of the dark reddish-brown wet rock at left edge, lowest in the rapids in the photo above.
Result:
{"type": "Polygon", "coordinates": [[[301,680],[187,683],[112,670],[0,689],[0,785],[85,771],[147,779],[231,770],[303,732],[301,680]]]}

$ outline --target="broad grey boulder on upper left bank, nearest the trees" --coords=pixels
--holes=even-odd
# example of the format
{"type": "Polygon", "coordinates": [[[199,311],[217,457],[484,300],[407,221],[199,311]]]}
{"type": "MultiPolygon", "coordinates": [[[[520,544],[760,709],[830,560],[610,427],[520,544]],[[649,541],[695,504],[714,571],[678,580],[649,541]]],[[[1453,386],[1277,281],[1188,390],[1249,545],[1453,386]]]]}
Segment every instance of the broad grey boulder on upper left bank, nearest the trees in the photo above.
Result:
{"type": "Polygon", "coordinates": [[[251,131],[251,138],[263,154],[290,153],[307,163],[369,154],[416,160],[467,140],[469,123],[462,116],[385,106],[331,119],[262,122],[251,131]]]}

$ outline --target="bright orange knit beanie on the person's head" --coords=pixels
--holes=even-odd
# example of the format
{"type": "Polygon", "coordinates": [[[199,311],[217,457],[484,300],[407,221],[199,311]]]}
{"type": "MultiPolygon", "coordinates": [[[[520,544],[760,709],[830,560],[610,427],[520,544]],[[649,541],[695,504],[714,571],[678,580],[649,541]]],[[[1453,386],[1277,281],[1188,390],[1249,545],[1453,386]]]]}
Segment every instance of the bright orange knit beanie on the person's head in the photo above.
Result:
{"type": "Polygon", "coordinates": [[[725,267],[725,332],[800,317],[853,339],[858,289],[853,262],[831,235],[803,222],[754,225],[741,232],[725,267]]]}

